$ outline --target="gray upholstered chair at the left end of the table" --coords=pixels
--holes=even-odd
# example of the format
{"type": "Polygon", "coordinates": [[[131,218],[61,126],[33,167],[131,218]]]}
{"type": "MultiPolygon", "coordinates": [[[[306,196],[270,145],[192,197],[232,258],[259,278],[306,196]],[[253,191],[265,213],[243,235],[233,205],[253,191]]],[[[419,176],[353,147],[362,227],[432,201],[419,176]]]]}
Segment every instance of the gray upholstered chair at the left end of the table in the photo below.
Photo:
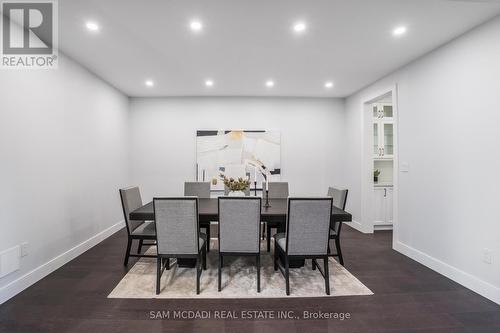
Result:
{"type": "Polygon", "coordinates": [[[120,189],[120,199],[122,202],[123,217],[127,228],[127,251],[125,252],[125,260],[123,265],[128,265],[129,257],[156,257],[153,255],[141,254],[143,245],[154,245],[153,243],[144,244],[144,240],[155,240],[154,223],[150,221],[136,221],[130,219],[130,213],[137,208],[142,207],[142,198],[139,187],[132,186],[120,189]],[[130,249],[132,241],[138,240],[137,254],[131,254],[130,249]]]}

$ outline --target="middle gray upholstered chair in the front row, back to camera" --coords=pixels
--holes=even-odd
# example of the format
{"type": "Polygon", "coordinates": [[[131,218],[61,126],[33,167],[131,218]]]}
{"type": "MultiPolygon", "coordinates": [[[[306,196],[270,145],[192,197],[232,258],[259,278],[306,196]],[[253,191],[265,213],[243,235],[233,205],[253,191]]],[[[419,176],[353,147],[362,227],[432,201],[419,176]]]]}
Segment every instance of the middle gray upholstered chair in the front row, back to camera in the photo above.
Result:
{"type": "Polygon", "coordinates": [[[255,256],[260,292],[261,198],[219,197],[219,291],[224,256],[255,256]]]}

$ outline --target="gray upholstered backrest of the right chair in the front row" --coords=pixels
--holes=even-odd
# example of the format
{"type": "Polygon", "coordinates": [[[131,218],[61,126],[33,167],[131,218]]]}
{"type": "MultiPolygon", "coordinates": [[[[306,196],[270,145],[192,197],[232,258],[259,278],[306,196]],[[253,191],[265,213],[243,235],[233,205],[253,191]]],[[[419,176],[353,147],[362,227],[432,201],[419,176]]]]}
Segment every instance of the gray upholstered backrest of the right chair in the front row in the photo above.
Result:
{"type": "Polygon", "coordinates": [[[326,255],[332,215],[332,198],[289,198],[287,253],[326,255]]]}

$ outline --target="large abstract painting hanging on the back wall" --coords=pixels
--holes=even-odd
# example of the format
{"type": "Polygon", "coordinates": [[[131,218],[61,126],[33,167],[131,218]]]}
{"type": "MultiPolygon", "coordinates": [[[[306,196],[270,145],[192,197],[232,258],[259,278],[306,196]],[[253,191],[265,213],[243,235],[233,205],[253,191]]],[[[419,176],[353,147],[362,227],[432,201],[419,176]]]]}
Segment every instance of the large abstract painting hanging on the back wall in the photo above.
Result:
{"type": "MultiPolygon", "coordinates": [[[[197,181],[224,190],[220,174],[249,178],[258,186],[281,178],[281,135],[266,130],[200,130],[196,132],[197,181]]],[[[253,186],[251,186],[253,188],[253,186]]]]}

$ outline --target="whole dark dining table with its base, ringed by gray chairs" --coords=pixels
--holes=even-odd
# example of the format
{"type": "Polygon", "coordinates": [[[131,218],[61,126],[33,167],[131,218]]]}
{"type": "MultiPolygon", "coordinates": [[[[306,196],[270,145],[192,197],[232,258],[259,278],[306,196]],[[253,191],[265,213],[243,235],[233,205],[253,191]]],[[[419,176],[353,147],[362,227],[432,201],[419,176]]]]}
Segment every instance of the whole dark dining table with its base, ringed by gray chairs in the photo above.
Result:
{"type": "MultiPolygon", "coordinates": [[[[288,210],[288,199],[269,199],[269,206],[266,201],[262,200],[261,221],[272,223],[276,226],[278,232],[284,232],[286,228],[286,215],[288,210]]],[[[138,221],[153,221],[154,210],[153,202],[148,202],[145,205],[130,212],[131,220],[138,221]]],[[[217,198],[199,198],[198,199],[198,220],[200,226],[209,226],[210,223],[217,223],[219,220],[219,205],[217,198]]],[[[332,216],[330,223],[351,222],[352,215],[338,207],[332,207],[332,216]]],[[[189,259],[178,259],[179,266],[193,267],[194,263],[189,259]]],[[[300,266],[298,263],[291,266],[300,266]]]]}

